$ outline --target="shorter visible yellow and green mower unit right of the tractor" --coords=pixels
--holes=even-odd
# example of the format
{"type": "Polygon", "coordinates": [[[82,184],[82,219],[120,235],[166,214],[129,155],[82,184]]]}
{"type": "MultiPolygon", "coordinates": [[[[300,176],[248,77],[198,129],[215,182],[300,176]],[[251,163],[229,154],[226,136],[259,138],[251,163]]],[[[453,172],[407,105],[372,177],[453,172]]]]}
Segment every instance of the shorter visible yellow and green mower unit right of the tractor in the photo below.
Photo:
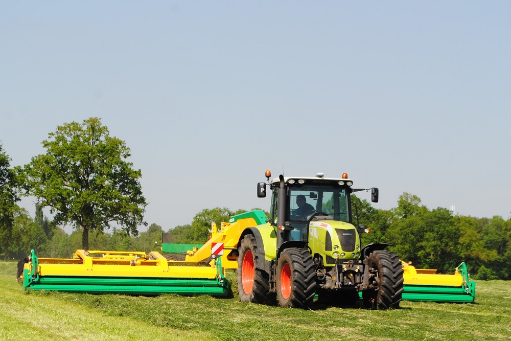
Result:
{"type": "Polygon", "coordinates": [[[403,300],[473,303],[476,284],[463,262],[451,275],[436,274],[436,269],[416,269],[403,262],[403,300]]]}

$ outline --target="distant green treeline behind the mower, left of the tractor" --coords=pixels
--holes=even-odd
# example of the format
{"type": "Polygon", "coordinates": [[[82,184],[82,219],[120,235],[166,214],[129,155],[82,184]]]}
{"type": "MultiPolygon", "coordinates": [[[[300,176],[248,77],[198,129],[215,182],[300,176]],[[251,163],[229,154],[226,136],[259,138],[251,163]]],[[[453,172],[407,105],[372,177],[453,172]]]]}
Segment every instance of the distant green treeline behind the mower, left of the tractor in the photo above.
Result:
{"type": "MultiPolygon", "coordinates": [[[[95,231],[89,236],[89,250],[102,251],[159,251],[161,234],[172,232],[175,243],[204,243],[211,229],[211,223],[218,226],[228,221],[230,216],[246,212],[230,211],[226,208],[204,209],[197,213],[192,222],[164,231],[158,224],[151,224],[147,231],[128,234],[114,229],[111,233],[95,231]],[[157,244],[155,244],[157,242],[157,244]]],[[[82,248],[82,229],[76,226],[67,234],[48,217],[43,216],[42,208],[36,205],[35,218],[26,209],[16,207],[9,241],[0,246],[4,259],[22,259],[34,249],[38,257],[69,258],[82,248]]]]}

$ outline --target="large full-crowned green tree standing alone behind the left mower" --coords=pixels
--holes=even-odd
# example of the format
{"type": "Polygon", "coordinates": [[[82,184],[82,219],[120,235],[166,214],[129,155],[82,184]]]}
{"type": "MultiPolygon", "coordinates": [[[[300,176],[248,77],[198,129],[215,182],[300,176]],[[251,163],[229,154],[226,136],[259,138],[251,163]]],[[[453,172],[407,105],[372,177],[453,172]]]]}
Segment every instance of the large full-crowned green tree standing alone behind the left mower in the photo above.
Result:
{"type": "Polygon", "coordinates": [[[99,118],[58,126],[42,142],[46,154],[24,167],[26,194],[55,213],[55,224],[76,223],[82,229],[82,247],[89,247],[89,231],[102,232],[117,222],[137,234],[146,224],[142,173],[126,161],[130,149],[110,137],[99,118]]]}

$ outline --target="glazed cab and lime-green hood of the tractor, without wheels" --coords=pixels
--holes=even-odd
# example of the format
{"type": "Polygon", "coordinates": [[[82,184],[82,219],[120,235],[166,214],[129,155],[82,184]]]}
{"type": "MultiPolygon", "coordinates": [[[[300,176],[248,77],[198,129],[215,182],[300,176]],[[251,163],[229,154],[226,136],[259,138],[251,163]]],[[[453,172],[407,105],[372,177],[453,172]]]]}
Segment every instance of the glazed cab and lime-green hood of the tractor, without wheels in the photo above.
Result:
{"type": "MultiPolygon", "coordinates": [[[[278,230],[277,248],[287,242],[304,242],[324,265],[359,259],[361,230],[352,221],[351,194],[361,190],[352,188],[346,173],[340,178],[326,178],[322,173],[315,177],[281,175],[268,182],[272,191],[269,221],[278,230]]],[[[372,188],[371,193],[377,202],[378,189],[372,188]]],[[[265,195],[266,184],[259,183],[258,196],[265,195]]]]}

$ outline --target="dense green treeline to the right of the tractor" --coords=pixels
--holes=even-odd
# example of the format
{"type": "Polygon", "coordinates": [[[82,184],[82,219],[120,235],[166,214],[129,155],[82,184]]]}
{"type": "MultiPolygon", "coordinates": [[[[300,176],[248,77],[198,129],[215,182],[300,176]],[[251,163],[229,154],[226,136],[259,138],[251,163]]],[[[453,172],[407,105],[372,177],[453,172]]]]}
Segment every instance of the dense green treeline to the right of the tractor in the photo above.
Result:
{"type": "MultiPolygon", "coordinates": [[[[429,210],[415,195],[404,193],[398,207],[378,210],[354,197],[358,220],[371,230],[363,244],[390,243],[402,260],[417,268],[449,274],[466,262],[476,279],[511,279],[511,219],[453,215],[448,209],[429,210]]],[[[357,215],[354,210],[354,220],[357,215]]]]}

